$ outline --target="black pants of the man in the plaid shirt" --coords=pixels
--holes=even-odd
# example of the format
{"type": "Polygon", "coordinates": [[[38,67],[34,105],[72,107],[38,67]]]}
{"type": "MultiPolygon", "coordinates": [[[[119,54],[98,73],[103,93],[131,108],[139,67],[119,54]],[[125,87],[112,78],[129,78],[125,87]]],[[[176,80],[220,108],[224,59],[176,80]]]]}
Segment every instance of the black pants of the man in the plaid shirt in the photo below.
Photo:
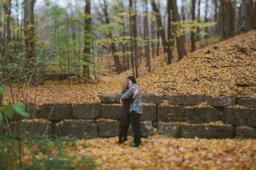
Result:
{"type": "Polygon", "coordinates": [[[131,129],[134,133],[134,143],[136,146],[139,146],[140,139],[141,139],[141,131],[140,131],[140,119],[141,114],[137,113],[136,111],[131,111],[130,113],[130,120],[131,120],[131,129]]]}

